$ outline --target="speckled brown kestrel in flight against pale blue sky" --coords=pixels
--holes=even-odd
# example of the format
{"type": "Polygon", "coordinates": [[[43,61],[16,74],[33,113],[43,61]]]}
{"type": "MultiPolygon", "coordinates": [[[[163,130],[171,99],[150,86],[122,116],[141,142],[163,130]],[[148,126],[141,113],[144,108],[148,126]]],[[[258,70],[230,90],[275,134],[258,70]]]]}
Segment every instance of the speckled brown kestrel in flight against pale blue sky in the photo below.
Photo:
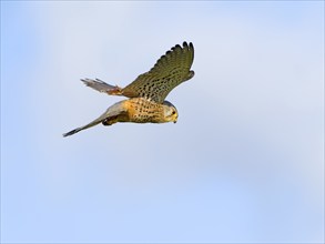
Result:
{"type": "Polygon", "coordinates": [[[193,44],[183,42],[183,47],[179,44],[173,47],[156,61],[149,72],[140,74],[135,81],[123,89],[99,79],[81,80],[97,91],[110,95],[124,95],[129,99],[113,104],[97,120],[64,133],[63,136],[72,135],[99,123],[103,125],[118,122],[176,123],[177,110],[171,102],[165,101],[165,98],[175,87],[194,77],[194,71],[190,70],[193,60],[193,44]]]}

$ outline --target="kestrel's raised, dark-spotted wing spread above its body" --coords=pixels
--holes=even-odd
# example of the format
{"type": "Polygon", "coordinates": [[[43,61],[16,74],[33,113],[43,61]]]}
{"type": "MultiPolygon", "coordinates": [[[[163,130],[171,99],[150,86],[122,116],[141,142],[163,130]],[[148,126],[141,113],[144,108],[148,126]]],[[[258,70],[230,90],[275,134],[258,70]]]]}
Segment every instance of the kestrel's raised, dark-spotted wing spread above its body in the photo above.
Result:
{"type": "Polygon", "coordinates": [[[194,47],[190,42],[183,47],[175,45],[162,55],[146,73],[121,90],[129,98],[145,98],[162,103],[167,94],[182,82],[194,77],[191,65],[194,59],[194,47]]]}

